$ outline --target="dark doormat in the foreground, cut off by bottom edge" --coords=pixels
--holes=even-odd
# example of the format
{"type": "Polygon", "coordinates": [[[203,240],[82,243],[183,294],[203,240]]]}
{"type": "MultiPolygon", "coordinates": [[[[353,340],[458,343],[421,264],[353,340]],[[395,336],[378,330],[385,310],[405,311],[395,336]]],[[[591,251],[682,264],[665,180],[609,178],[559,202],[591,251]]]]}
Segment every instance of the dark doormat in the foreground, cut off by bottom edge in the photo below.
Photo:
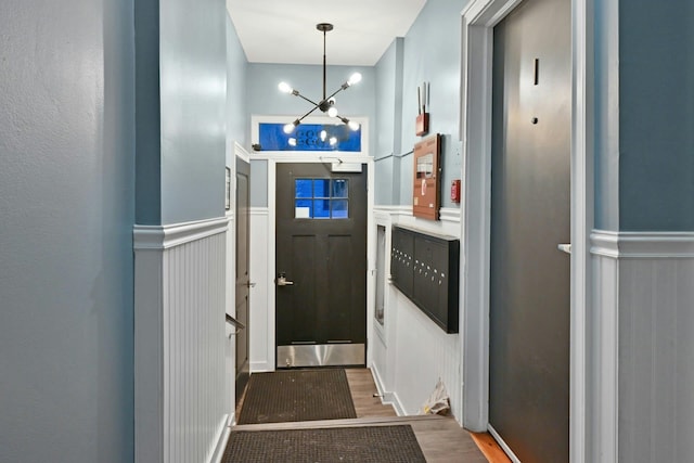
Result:
{"type": "Polygon", "coordinates": [[[232,432],[222,462],[426,463],[426,459],[412,427],[397,425],[232,432]]]}

